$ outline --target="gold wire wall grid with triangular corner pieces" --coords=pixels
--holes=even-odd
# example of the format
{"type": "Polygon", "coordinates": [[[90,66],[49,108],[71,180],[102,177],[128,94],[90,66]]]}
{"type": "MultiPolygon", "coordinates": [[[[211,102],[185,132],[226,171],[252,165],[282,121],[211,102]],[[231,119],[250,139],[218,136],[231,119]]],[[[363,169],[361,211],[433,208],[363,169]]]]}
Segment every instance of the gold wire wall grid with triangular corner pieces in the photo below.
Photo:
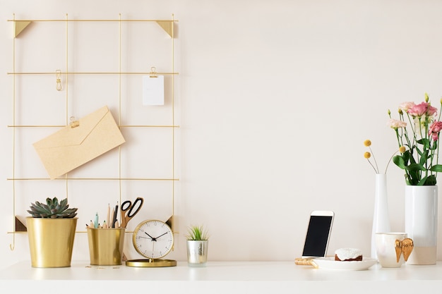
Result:
{"type": "MultiPolygon", "coordinates": [[[[175,197],[175,186],[174,183],[179,180],[179,178],[175,177],[175,129],[179,128],[179,125],[175,124],[175,92],[174,92],[174,76],[178,75],[179,73],[174,71],[174,24],[178,22],[178,20],[174,19],[174,15],[172,14],[172,18],[170,20],[153,20],[153,19],[121,19],[121,14],[119,15],[118,19],[69,19],[68,14],[66,14],[65,19],[35,19],[35,20],[18,20],[16,19],[16,15],[13,14],[13,19],[7,20],[8,22],[13,23],[13,70],[12,72],[8,72],[8,75],[13,76],[13,123],[11,125],[8,125],[8,128],[12,128],[12,177],[7,178],[7,180],[10,180],[12,182],[12,190],[13,190],[13,231],[8,232],[13,235],[13,241],[10,244],[11,250],[14,250],[15,243],[16,243],[16,233],[23,233],[27,231],[26,226],[17,218],[16,216],[16,181],[18,180],[50,180],[49,178],[18,178],[16,177],[16,129],[18,128],[63,128],[66,127],[66,125],[71,125],[71,128],[76,128],[78,126],[78,121],[76,118],[72,116],[68,116],[68,77],[70,75],[119,75],[119,113],[118,113],[118,119],[117,119],[117,125],[119,128],[170,128],[172,130],[172,177],[171,178],[124,178],[121,176],[121,146],[118,147],[119,152],[119,177],[118,178],[73,178],[71,176],[68,176],[68,173],[63,178],[56,178],[54,180],[64,180],[66,182],[66,197],[68,197],[68,183],[72,180],[116,180],[119,181],[119,202],[121,201],[121,182],[122,181],[133,181],[133,180],[147,180],[147,181],[170,181],[172,183],[172,216],[169,217],[167,220],[167,223],[172,228],[172,231],[174,231],[174,197],[175,197]],[[66,109],[65,109],[65,117],[66,117],[66,125],[18,125],[16,122],[16,75],[54,75],[54,71],[52,72],[46,72],[46,71],[33,71],[33,72],[19,72],[16,71],[16,38],[20,37],[20,34],[27,31],[30,28],[30,25],[32,23],[37,22],[59,22],[64,23],[66,25],[66,53],[65,53],[65,59],[66,64],[65,68],[66,70],[57,69],[55,71],[55,90],[56,91],[64,91],[66,92],[65,96],[65,103],[66,103],[66,109]],[[109,22],[109,23],[119,23],[119,71],[68,71],[69,64],[68,64],[68,25],[69,23],[77,23],[77,22],[85,22],[85,23],[100,23],[100,22],[109,22]],[[157,72],[155,67],[150,68],[150,71],[145,72],[127,72],[127,71],[121,71],[121,23],[125,22],[153,22],[157,23],[159,27],[164,30],[169,37],[171,37],[172,42],[172,68],[171,71],[167,72],[157,72]],[[172,124],[171,125],[121,125],[121,76],[122,75],[150,75],[153,77],[154,75],[170,75],[172,78],[172,86],[171,86],[171,99],[172,99],[172,124]]],[[[83,231],[78,233],[85,233],[83,231]]],[[[126,231],[126,233],[131,233],[130,231],[126,231]]]]}

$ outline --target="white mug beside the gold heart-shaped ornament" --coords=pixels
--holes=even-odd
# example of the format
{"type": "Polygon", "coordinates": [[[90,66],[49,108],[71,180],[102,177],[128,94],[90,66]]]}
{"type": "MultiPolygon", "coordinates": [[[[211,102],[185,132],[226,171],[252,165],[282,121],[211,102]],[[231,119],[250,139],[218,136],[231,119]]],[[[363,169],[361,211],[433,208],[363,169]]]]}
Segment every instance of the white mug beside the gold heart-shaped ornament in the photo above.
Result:
{"type": "MultiPolygon", "coordinates": [[[[407,233],[388,232],[376,233],[376,254],[382,267],[401,267],[404,256],[400,254],[399,260],[396,253],[396,240],[407,238],[407,233]]],[[[402,252],[401,252],[402,253],[402,252]]]]}

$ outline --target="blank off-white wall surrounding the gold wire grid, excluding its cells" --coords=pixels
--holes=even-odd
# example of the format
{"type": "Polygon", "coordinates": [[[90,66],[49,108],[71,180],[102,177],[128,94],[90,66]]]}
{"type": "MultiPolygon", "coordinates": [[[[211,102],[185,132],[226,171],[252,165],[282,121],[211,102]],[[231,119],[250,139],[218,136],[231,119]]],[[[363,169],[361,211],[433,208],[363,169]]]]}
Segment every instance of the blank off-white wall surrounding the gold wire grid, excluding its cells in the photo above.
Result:
{"type": "MultiPolygon", "coordinates": [[[[13,50],[6,20],[13,13],[20,19],[63,19],[66,13],[78,19],[119,13],[169,19],[174,13],[179,234],[169,258],[185,260],[186,226],[204,223],[211,234],[210,260],[293,260],[301,255],[313,209],[336,214],[329,253],[359,247],[369,255],[374,171],[363,157],[363,142],[373,142],[383,167],[397,148],[386,127],[387,110],[420,102],[425,92],[438,105],[441,10],[440,1],[1,0],[1,267],[30,259],[27,236],[16,234],[11,251],[13,235],[7,233],[13,202],[6,180],[12,173],[6,127],[12,86],[6,73],[12,71],[13,50]]],[[[394,231],[404,228],[404,185],[401,171],[391,165],[394,231]]],[[[78,207],[100,204],[102,198],[88,197],[78,207]]],[[[17,214],[25,217],[27,207],[21,203],[17,214]]],[[[150,217],[147,209],[143,217],[150,217]]],[[[73,259],[88,261],[87,246],[85,234],[77,234],[73,259]]]]}

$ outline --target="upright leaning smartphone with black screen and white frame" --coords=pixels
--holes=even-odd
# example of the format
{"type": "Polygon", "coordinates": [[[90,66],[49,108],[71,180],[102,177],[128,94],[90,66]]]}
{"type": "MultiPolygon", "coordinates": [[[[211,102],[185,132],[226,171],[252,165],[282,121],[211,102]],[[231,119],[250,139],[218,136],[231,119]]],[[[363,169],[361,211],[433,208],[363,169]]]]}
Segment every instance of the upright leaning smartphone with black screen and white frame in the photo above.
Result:
{"type": "Polygon", "coordinates": [[[334,212],[315,210],[310,214],[302,257],[325,257],[333,226],[334,212]]]}

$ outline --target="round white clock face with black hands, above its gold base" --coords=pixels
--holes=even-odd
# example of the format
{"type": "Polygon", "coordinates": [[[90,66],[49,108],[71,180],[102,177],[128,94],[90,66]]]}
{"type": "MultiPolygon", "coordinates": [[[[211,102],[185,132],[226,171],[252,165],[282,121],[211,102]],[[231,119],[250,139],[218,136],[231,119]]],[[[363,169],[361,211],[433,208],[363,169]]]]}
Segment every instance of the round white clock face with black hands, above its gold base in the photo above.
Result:
{"type": "Polygon", "coordinates": [[[133,231],[136,251],[150,259],[165,257],[174,245],[172,229],[163,221],[143,221],[133,231]]]}

